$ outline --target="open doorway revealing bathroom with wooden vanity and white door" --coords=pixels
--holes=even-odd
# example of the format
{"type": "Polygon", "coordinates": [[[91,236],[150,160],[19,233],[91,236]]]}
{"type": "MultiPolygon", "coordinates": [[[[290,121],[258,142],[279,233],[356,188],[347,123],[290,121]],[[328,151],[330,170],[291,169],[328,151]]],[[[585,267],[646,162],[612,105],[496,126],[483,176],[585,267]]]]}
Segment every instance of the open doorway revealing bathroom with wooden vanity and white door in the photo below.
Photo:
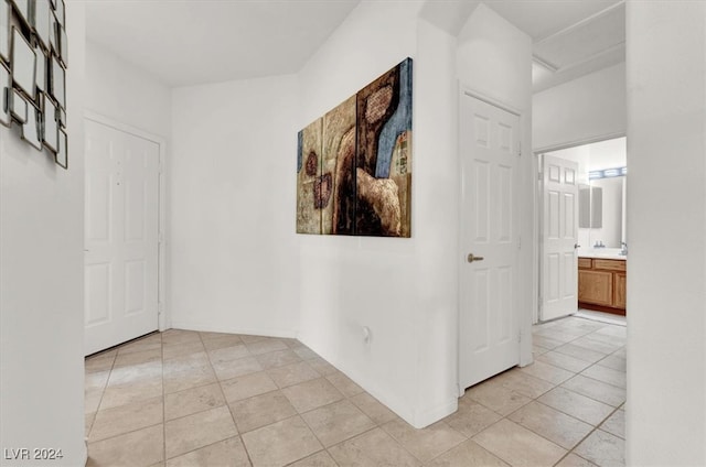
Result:
{"type": "Polygon", "coordinates": [[[616,316],[627,312],[625,138],[544,151],[538,165],[535,322],[579,313],[624,324],[616,316]]]}

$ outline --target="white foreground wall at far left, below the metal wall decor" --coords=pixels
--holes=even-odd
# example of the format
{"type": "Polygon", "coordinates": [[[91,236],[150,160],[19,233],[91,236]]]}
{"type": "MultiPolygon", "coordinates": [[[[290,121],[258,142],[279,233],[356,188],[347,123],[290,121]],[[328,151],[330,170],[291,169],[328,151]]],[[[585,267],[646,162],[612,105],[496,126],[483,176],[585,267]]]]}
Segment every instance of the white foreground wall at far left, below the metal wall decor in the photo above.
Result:
{"type": "Polygon", "coordinates": [[[62,449],[51,464],[75,467],[86,459],[83,3],[66,13],[68,171],[0,127],[0,446],[62,449]]]}

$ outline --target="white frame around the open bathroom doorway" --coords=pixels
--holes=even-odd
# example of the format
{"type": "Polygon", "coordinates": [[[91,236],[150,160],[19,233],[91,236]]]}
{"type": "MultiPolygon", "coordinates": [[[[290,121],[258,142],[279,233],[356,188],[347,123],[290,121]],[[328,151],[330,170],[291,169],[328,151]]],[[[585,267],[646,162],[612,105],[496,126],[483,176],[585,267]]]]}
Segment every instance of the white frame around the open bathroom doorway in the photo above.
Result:
{"type": "Polygon", "coordinates": [[[601,141],[614,140],[616,138],[625,138],[624,131],[605,133],[597,137],[584,138],[580,140],[568,141],[565,143],[550,144],[543,148],[532,150],[533,155],[533,176],[534,176],[534,252],[532,254],[532,271],[534,279],[533,284],[533,303],[532,303],[532,324],[539,323],[539,306],[542,305],[542,234],[544,225],[544,181],[538,174],[542,170],[542,154],[553,151],[561,151],[564,149],[577,148],[586,144],[599,143],[601,141]]]}

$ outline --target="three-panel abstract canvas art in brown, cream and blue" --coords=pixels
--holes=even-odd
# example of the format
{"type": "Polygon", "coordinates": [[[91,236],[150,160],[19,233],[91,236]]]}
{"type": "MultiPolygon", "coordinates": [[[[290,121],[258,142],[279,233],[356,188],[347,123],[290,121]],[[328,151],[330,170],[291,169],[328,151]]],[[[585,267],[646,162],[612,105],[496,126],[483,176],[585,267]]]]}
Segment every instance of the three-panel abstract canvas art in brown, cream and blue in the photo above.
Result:
{"type": "Polygon", "coordinates": [[[298,134],[297,232],[410,237],[411,58],[298,134]]]}

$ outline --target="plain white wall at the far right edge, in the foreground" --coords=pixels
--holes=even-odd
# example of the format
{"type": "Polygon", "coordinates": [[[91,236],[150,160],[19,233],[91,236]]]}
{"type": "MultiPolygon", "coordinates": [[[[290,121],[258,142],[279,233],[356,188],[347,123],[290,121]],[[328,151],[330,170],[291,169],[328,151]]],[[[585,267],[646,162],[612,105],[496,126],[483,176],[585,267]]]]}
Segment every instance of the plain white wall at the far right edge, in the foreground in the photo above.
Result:
{"type": "Polygon", "coordinates": [[[627,21],[627,460],[703,466],[706,3],[629,1],[627,21]]]}

